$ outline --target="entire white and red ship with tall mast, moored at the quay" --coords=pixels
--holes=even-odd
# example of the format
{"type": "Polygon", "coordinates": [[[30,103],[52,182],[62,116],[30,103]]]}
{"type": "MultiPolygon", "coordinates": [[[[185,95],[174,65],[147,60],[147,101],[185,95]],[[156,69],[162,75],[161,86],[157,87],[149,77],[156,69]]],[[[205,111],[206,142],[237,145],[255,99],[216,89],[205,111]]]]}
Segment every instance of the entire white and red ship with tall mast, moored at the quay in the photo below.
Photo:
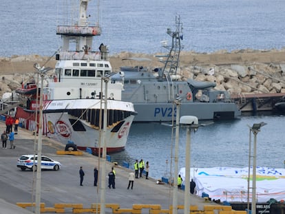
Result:
{"type": "MultiPolygon", "coordinates": [[[[74,142],[79,149],[89,147],[98,153],[102,147],[99,144],[107,101],[107,152],[122,151],[136,111],[132,103],[121,100],[123,85],[112,83],[109,78],[112,66],[107,47],[101,44],[100,51],[92,51],[93,36],[99,36],[101,28],[98,24],[89,26],[88,2],[80,1],[77,23],[57,27],[56,34],[61,35],[63,46],[56,54],[58,62],[53,72],[41,74],[43,80],[39,83],[43,81],[43,92],[36,94],[35,88],[39,88],[36,83],[17,89],[28,101],[25,107],[17,107],[16,117],[26,129],[37,130],[36,113],[42,96],[43,134],[63,144],[74,142]],[[75,43],[75,50],[70,50],[74,47],[70,43],[75,43]]],[[[39,65],[35,67],[39,69],[39,65]]]]}

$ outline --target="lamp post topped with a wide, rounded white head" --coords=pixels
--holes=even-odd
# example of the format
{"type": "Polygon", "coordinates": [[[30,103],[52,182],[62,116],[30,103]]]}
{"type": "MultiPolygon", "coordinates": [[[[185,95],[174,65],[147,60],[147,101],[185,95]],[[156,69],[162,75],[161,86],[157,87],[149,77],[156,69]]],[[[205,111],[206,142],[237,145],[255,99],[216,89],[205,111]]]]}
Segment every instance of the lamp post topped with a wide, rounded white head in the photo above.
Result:
{"type": "Polygon", "coordinates": [[[199,127],[196,116],[182,116],[180,125],[187,127],[187,140],[185,149],[185,189],[184,189],[184,214],[189,214],[190,208],[190,161],[191,161],[191,129],[196,131],[199,127]]]}

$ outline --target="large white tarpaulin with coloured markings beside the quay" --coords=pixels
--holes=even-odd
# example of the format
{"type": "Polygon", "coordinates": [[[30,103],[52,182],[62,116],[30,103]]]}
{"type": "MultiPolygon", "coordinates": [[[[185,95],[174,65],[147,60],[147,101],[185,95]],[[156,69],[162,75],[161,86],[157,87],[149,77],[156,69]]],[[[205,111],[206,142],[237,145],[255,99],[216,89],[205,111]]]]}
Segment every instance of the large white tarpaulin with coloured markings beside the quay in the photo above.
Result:
{"type": "MultiPolygon", "coordinates": [[[[179,173],[185,180],[185,168],[179,173]]],[[[252,191],[252,167],[249,201],[252,191]]],[[[228,202],[247,202],[249,168],[214,167],[191,168],[191,178],[196,182],[197,195],[202,192],[212,199],[228,202]]],[[[285,169],[257,167],[256,169],[257,202],[267,202],[271,198],[285,200],[285,169]]]]}

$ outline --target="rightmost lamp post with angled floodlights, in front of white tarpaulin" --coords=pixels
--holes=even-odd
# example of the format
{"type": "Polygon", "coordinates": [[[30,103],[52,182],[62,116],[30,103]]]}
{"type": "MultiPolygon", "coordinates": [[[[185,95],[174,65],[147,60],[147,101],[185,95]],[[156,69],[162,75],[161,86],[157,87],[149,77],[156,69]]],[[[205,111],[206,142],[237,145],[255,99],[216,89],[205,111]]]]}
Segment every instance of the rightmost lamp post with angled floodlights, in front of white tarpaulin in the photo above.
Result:
{"type": "Polygon", "coordinates": [[[254,140],[253,140],[253,191],[251,197],[251,213],[256,213],[256,138],[257,133],[260,132],[260,128],[266,125],[265,122],[255,123],[253,127],[249,127],[249,129],[253,132],[254,140]]]}

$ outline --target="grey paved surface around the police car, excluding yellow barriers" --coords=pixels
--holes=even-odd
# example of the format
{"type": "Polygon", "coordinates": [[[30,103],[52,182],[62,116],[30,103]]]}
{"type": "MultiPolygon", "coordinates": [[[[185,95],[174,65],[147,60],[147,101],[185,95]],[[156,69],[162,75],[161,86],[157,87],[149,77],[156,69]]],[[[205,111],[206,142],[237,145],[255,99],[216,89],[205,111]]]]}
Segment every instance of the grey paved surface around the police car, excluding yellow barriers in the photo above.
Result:
{"type": "MultiPolygon", "coordinates": [[[[5,124],[1,121],[1,132],[5,129],[4,127],[5,124]]],[[[34,142],[37,141],[34,140],[32,133],[20,128],[14,141],[16,149],[0,149],[0,197],[5,202],[11,204],[32,202],[32,195],[35,193],[35,189],[33,191],[35,175],[33,176],[32,171],[21,171],[16,164],[21,155],[33,153],[34,142]]],[[[92,203],[100,203],[99,189],[93,186],[93,169],[94,166],[98,166],[98,158],[88,153],[83,153],[83,156],[56,155],[56,150],[63,149],[63,145],[59,142],[43,138],[43,155],[58,160],[62,167],[59,171],[42,171],[41,202],[45,202],[45,206],[50,207],[53,207],[55,203],[79,203],[83,204],[84,208],[89,208],[92,203]],[[83,166],[85,171],[83,186],[79,185],[80,166],[83,166]]],[[[107,162],[107,173],[111,167],[112,163],[107,162]]],[[[106,189],[106,203],[120,204],[120,208],[131,208],[133,204],[161,204],[162,208],[169,208],[169,205],[172,204],[172,188],[170,186],[156,184],[156,180],[151,178],[149,180],[140,178],[135,180],[134,189],[128,190],[129,169],[116,166],[115,170],[116,189],[106,189]]],[[[178,204],[184,203],[183,196],[184,192],[179,191],[178,204]]],[[[196,204],[202,209],[204,200],[191,196],[190,204],[196,204]]],[[[111,210],[106,209],[106,213],[109,211],[111,210]]],[[[13,213],[17,212],[13,211],[13,213]]]]}

